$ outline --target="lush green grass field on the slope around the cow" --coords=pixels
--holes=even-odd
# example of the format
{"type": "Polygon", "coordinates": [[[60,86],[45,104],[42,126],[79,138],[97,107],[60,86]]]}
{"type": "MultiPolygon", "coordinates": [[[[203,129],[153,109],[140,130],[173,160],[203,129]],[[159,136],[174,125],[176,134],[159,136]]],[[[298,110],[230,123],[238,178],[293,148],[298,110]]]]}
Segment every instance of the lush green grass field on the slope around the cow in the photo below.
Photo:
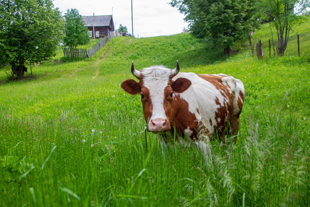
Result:
{"type": "MultiPolygon", "coordinates": [[[[309,206],[309,20],[300,57],[295,43],[284,57],[257,60],[247,46],[222,56],[178,34],[113,38],[87,60],[60,49],[32,66],[34,80],[8,81],[1,70],[0,206],[309,206]],[[176,60],[246,89],[237,143],[211,142],[211,167],[192,148],[164,159],[152,133],[146,145],[140,98],[119,86],[133,78],[131,61],[139,70],[176,60]]],[[[263,43],[264,29],[255,33],[263,43]]]]}

